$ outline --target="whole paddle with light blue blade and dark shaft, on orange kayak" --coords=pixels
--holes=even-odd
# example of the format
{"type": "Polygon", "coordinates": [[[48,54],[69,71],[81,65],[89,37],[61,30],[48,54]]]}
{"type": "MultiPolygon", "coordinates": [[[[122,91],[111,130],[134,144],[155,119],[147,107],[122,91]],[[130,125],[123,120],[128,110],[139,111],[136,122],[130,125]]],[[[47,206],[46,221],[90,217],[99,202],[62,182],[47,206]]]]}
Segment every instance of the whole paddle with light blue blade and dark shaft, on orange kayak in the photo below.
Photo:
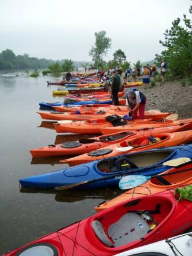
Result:
{"type": "MultiPolygon", "coordinates": [[[[188,162],[190,161],[186,161],[184,165],[187,165],[188,162]]],[[[177,167],[176,167],[177,168],[177,167]]],[[[169,169],[171,170],[171,169],[169,169]]],[[[170,172],[170,173],[166,173],[166,174],[159,174],[159,175],[153,175],[153,176],[144,176],[144,175],[129,175],[129,176],[125,176],[123,178],[121,178],[121,180],[119,181],[119,188],[121,190],[128,190],[130,188],[135,188],[143,183],[145,183],[148,180],[151,180],[151,178],[161,178],[163,176],[167,176],[167,175],[172,175],[172,174],[178,174],[180,172],[185,172],[185,171],[192,171],[191,168],[188,169],[184,169],[181,171],[175,171],[175,172],[170,172]]],[[[160,182],[162,181],[163,183],[165,183],[165,185],[171,185],[169,184],[169,182],[163,178],[161,178],[161,180],[159,180],[160,182]]]]}

